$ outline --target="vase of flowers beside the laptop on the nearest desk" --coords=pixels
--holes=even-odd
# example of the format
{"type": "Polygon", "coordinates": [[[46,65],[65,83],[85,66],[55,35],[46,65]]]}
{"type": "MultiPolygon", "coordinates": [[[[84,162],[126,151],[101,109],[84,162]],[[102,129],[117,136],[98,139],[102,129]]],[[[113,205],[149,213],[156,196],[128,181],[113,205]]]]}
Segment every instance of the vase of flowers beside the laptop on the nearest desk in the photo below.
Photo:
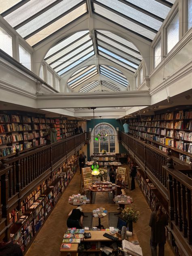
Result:
{"type": "Polygon", "coordinates": [[[133,222],[136,223],[139,219],[140,213],[138,209],[134,207],[127,207],[122,211],[123,218],[128,221],[129,231],[133,232],[133,222]]]}

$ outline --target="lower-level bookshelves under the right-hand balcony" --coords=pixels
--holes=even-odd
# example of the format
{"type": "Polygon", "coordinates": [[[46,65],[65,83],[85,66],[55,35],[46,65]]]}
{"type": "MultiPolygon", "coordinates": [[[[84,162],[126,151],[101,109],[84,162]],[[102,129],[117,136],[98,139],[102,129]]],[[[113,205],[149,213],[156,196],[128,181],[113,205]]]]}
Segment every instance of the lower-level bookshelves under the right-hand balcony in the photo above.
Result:
{"type": "MultiPolygon", "coordinates": [[[[145,177],[143,177],[143,175],[140,172],[140,168],[137,168],[136,179],[151,211],[154,211],[156,202],[161,201],[162,199],[161,194],[158,192],[158,189],[154,186],[154,184],[149,179],[146,179],[145,177]]],[[[162,208],[162,210],[167,215],[165,209],[162,208]]],[[[167,218],[168,218],[168,215],[167,215],[167,218]]],[[[175,243],[175,238],[169,226],[166,226],[166,241],[168,241],[169,244],[171,245],[171,249],[173,250],[173,253],[177,256],[180,256],[179,248],[175,243]]]]}

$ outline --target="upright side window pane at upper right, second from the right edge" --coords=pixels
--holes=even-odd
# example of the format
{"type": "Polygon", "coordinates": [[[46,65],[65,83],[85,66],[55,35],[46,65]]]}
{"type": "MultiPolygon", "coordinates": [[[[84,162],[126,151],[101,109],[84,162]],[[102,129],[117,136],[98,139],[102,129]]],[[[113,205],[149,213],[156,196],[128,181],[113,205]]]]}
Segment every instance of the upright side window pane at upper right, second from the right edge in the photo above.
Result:
{"type": "Polygon", "coordinates": [[[176,45],[179,41],[179,13],[177,13],[174,19],[166,30],[167,34],[167,53],[176,45]]]}

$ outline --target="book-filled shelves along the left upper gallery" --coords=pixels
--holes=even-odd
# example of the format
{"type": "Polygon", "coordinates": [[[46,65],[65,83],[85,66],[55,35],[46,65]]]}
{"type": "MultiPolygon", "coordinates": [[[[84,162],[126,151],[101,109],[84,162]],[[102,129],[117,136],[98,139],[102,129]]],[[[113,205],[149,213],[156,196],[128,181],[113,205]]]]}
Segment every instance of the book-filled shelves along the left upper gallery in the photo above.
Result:
{"type": "Polygon", "coordinates": [[[34,113],[19,111],[0,112],[0,157],[45,145],[44,133],[55,124],[57,139],[75,134],[76,120],[34,116],[34,113]]]}

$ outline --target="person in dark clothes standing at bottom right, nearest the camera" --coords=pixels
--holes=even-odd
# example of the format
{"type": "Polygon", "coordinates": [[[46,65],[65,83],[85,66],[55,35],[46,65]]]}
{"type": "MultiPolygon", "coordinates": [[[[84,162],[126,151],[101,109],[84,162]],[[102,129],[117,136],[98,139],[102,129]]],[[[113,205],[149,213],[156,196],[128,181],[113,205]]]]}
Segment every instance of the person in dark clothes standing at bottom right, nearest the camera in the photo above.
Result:
{"type": "Polygon", "coordinates": [[[159,247],[158,256],[164,256],[164,245],[166,243],[166,225],[168,225],[166,215],[162,212],[162,205],[160,202],[157,202],[155,210],[151,213],[149,220],[149,226],[151,227],[151,256],[157,256],[157,245],[159,247]]]}

